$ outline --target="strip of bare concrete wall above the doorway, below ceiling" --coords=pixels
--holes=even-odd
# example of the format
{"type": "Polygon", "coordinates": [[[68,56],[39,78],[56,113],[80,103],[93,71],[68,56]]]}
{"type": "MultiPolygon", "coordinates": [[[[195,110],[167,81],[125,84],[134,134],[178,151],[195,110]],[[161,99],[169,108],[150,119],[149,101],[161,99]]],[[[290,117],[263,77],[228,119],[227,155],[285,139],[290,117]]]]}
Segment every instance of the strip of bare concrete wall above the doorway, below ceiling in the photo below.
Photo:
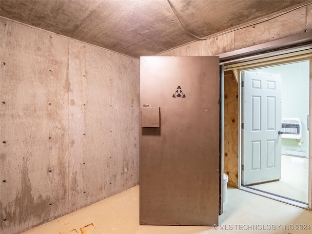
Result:
{"type": "Polygon", "coordinates": [[[215,56],[272,40],[312,32],[312,5],[219,37],[198,40],[157,56],[215,56]]]}

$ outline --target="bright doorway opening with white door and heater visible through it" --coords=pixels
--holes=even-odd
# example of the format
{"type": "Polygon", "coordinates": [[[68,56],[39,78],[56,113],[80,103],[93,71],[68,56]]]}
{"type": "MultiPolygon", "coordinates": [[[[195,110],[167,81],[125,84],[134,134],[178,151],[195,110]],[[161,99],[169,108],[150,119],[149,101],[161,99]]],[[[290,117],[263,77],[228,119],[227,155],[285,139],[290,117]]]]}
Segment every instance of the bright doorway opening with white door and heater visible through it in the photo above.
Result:
{"type": "Polygon", "coordinates": [[[238,73],[240,188],[303,208],[311,196],[310,64],[310,59],[295,60],[238,73]]]}

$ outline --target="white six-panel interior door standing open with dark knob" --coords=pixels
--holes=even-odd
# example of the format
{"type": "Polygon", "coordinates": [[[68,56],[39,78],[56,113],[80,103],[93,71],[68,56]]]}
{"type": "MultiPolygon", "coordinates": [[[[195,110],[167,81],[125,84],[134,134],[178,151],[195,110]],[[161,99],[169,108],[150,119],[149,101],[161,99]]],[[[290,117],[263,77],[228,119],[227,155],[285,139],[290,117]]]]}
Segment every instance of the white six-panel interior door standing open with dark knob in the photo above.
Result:
{"type": "Polygon", "coordinates": [[[281,76],[243,72],[242,184],[281,178],[281,76]]]}

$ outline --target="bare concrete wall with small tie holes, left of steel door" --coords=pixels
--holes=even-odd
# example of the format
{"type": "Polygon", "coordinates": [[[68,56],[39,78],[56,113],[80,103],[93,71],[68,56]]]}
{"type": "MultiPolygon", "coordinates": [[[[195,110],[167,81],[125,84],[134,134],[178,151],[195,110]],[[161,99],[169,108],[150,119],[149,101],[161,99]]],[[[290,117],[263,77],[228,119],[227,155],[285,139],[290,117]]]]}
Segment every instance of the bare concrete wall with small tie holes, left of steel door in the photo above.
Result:
{"type": "Polygon", "coordinates": [[[1,233],[138,184],[139,60],[1,18],[1,233]]]}

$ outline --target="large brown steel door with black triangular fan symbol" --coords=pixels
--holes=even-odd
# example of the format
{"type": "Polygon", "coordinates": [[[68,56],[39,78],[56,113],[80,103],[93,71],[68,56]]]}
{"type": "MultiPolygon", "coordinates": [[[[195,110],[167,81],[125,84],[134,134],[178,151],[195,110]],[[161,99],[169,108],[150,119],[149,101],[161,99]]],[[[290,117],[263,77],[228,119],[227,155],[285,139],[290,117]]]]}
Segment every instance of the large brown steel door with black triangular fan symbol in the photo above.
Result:
{"type": "Polygon", "coordinates": [[[140,58],[140,224],[218,224],[219,99],[218,57],[140,58]]]}

